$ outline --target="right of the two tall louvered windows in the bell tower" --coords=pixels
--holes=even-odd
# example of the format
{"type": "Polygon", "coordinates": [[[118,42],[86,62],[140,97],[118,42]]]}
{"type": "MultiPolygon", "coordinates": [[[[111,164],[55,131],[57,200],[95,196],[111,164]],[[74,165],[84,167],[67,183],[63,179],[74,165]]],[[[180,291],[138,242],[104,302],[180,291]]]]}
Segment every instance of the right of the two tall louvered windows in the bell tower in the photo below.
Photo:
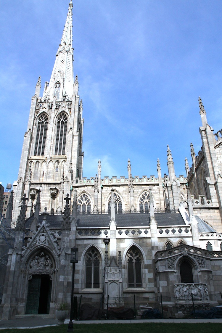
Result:
{"type": "Polygon", "coordinates": [[[67,123],[68,123],[67,115],[63,112],[59,116],[57,121],[55,155],[65,155],[67,123]]]}

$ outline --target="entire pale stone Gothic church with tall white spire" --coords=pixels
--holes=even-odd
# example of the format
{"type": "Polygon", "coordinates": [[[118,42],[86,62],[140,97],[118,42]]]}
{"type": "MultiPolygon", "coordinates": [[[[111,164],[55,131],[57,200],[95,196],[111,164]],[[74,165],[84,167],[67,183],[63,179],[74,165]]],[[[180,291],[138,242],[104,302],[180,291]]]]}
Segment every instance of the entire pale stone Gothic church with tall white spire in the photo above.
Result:
{"type": "MultiPolygon", "coordinates": [[[[168,315],[221,303],[222,130],[199,98],[201,151],[175,175],[83,175],[83,102],[74,77],[72,0],[49,82],[31,99],[18,179],[7,207],[15,230],[0,319],[51,314],[71,303],[71,248],[79,249],[74,295],[102,308],[149,304],[168,315]],[[108,298],[109,296],[109,298],[108,298]],[[109,300],[108,300],[109,299],[109,300]],[[170,312],[171,311],[171,312],[170,312]]],[[[86,119],[87,121],[87,119],[86,119]]]]}

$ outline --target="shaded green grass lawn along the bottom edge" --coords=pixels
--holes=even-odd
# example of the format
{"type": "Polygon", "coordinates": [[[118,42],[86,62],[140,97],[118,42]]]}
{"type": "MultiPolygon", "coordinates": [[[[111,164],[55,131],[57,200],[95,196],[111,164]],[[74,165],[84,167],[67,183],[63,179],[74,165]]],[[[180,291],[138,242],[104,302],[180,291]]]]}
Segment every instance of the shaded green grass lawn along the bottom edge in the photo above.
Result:
{"type": "MultiPolygon", "coordinates": [[[[174,323],[141,323],[141,324],[74,324],[74,333],[221,333],[222,325],[220,323],[197,323],[197,324],[174,324],[174,323]]],[[[22,333],[65,333],[67,325],[23,329],[22,333]]],[[[21,333],[19,329],[6,329],[2,333],[21,333]]]]}

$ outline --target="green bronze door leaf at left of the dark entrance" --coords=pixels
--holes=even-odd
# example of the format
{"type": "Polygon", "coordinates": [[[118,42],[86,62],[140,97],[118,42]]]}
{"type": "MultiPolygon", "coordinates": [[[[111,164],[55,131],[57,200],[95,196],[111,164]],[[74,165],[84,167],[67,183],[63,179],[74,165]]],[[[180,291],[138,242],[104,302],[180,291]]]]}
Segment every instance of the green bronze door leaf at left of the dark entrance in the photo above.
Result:
{"type": "Polygon", "coordinates": [[[33,275],[29,280],[26,314],[38,314],[41,275],[33,275]]]}

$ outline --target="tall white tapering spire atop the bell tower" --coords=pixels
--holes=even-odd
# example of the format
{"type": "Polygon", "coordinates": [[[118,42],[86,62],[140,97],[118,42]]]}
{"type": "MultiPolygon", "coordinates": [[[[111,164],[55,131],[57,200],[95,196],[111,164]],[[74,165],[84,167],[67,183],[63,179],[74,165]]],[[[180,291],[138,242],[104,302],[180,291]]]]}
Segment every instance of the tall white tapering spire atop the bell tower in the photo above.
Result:
{"type": "Polygon", "coordinates": [[[68,97],[73,95],[72,8],[73,3],[71,0],[69,3],[61,44],[59,44],[59,48],[56,53],[56,61],[53,67],[51,79],[48,87],[46,86],[44,91],[44,96],[49,96],[51,100],[54,96],[56,96],[58,100],[62,100],[64,95],[68,97]]]}

